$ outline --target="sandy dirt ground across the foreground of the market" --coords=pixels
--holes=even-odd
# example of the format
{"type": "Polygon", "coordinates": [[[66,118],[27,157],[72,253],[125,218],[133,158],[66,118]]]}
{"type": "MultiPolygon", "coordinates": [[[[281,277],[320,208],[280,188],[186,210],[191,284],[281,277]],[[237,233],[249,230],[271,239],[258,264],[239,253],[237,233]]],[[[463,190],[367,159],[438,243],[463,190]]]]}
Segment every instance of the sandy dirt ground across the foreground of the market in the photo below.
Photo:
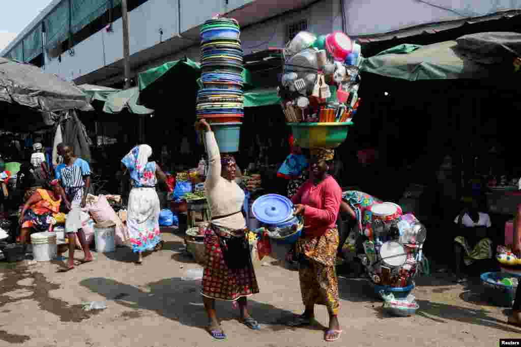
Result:
{"type": "MultiPolygon", "coordinates": [[[[521,329],[505,324],[507,310],[487,303],[479,283],[453,284],[443,274],[416,281],[416,316],[390,317],[381,311],[365,280],[340,278],[341,338],[324,341],[325,307],[318,324],[287,328],[281,319],[301,313],[296,271],[265,259],[256,269],[261,293],[250,300],[262,330],[240,324],[229,302],[217,305],[226,341],[204,330],[200,282],[182,280],[198,266],[181,254],[182,239],[165,232],[165,249],[133,263],[127,248],[95,254],[96,261],[57,272],[59,263],[0,263],[0,346],[497,346],[519,338],[521,329]],[[107,308],[85,312],[83,305],[104,301],[107,308]]],[[[76,252],[76,257],[82,257],[76,252]]]]}

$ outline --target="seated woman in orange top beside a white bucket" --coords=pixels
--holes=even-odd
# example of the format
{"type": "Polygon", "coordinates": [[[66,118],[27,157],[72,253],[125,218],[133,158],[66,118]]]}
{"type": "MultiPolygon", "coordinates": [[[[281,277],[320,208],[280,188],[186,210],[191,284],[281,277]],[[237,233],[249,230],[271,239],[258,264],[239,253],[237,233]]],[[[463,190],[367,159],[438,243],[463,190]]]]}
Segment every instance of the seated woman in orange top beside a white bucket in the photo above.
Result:
{"type": "Polygon", "coordinates": [[[26,244],[31,232],[48,231],[53,224],[52,217],[59,213],[60,204],[58,180],[46,182],[45,189],[37,189],[20,213],[20,243],[26,244]]]}

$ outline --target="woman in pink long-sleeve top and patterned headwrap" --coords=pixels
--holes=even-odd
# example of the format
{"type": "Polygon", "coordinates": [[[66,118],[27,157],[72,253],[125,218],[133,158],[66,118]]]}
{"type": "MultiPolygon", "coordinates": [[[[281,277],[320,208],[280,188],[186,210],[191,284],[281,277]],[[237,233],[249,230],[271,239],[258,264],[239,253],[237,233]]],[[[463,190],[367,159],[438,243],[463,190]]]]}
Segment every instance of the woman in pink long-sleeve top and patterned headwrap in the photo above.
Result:
{"type": "Polygon", "coordinates": [[[311,151],[309,179],[292,197],[295,215],[304,217],[304,230],[296,244],[304,313],[295,317],[290,326],[311,324],[315,305],[325,305],[329,312],[326,341],[340,337],[338,322],[339,296],[335,261],[339,245],[336,226],[342,190],[327,172],[334,151],[315,148],[311,151]]]}

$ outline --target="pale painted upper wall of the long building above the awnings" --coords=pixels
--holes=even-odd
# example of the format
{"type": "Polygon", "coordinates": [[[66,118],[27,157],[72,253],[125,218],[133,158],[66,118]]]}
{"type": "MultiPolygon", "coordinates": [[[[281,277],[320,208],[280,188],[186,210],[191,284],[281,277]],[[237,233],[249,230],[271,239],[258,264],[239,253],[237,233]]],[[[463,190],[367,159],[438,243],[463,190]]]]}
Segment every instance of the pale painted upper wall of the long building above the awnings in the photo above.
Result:
{"type": "MultiPolygon", "coordinates": [[[[166,41],[178,36],[179,27],[181,32],[185,32],[217,13],[230,11],[252,1],[229,0],[226,7],[224,0],[149,0],[129,13],[130,54],[158,44],[159,28],[163,29],[162,39],[166,41]]],[[[351,35],[384,33],[423,23],[462,18],[458,13],[470,15],[474,11],[474,15],[483,15],[498,9],[521,8],[521,0],[425,1],[431,5],[423,0],[345,0],[346,32],[351,35]]],[[[339,1],[323,0],[307,9],[243,29],[241,40],[244,53],[249,54],[268,47],[283,47],[286,44],[286,26],[301,19],[308,19],[308,30],[317,35],[342,29],[339,1]]],[[[121,19],[113,23],[113,32],[97,32],[74,49],[75,55],[64,53],[61,63],[57,58],[46,58],[45,71],[73,80],[122,59],[121,19]]],[[[174,60],[184,56],[198,61],[199,47],[175,52],[168,58],[174,60]]],[[[107,71],[107,75],[113,73],[114,71],[107,71]]]]}

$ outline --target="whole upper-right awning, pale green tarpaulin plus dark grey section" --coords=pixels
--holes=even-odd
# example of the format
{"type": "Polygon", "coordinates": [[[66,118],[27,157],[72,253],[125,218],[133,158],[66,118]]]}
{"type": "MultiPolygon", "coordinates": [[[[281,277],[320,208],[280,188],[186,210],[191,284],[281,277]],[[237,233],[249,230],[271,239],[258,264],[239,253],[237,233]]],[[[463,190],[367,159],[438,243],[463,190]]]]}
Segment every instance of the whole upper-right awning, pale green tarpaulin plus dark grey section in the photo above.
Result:
{"type": "Polygon", "coordinates": [[[409,81],[483,79],[512,70],[519,33],[478,33],[420,46],[402,44],[363,60],[361,70],[409,81]]]}

